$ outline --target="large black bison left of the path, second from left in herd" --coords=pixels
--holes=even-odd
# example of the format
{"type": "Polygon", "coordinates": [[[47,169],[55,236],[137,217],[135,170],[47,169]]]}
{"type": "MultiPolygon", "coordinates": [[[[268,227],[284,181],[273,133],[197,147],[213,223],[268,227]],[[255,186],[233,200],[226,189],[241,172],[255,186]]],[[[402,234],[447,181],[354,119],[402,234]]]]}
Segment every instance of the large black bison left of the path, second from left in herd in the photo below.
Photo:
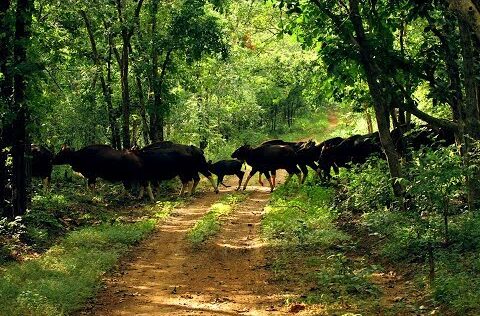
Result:
{"type": "MultiPolygon", "coordinates": [[[[56,165],[69,164],[76,172],[88,180],[88,185],[95,189],[97,178],[112,182],[122,182],[125,188],[140,182],[143,188],[147,186],[145,169],[142,160],[129,150],[116,150],[108,145],[90,145],[80,150],[62,146],[54,157],[56,165]]],[[[147,186],[151,200],[154,200],[150,186],[147,186]]]]}

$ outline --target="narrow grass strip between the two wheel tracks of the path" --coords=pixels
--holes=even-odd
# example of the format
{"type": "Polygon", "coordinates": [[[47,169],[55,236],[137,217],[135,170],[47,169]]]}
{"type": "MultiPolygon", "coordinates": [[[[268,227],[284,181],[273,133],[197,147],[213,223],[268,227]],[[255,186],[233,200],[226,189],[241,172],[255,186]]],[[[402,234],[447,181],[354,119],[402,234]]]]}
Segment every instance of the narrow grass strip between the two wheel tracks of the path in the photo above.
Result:
{"type": "Polygon", "coordinates": [[[224,195],[187,233],[188,241],[198,247],[220,231],[222,217],[230,214],[235,206],[247,198],[245,192],[224,195]]]}

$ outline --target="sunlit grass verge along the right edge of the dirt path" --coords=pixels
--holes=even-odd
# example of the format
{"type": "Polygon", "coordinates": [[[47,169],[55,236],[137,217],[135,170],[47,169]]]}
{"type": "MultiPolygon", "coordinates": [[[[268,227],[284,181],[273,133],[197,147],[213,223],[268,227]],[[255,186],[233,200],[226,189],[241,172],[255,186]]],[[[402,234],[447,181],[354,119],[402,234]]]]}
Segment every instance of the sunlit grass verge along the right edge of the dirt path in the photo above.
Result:
{"type": "Polygon", "coordinates": [[[275,246],[274,279],[296,288],[294,302],[317,304],[328,313],[376,311],[379,289],[371,280],[378,267],[352,256],[355,244],[336,225],[335,191],[313,183],[279,187],[265,208],[262,234],[275,246]]]}

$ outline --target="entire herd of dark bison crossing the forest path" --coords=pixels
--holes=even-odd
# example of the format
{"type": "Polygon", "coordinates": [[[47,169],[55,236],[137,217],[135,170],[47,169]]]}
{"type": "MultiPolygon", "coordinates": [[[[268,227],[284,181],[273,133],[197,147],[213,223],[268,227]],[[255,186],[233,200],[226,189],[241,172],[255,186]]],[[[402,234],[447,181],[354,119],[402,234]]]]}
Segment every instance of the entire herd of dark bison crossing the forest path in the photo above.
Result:
{"type": "MultiPolygon", "coordinates": [[[[399,152],[419,149],[421,146],[434,147],[454,143],[452,133],[429,126],[410,128],[408,132],[405,132],[404,128],[396,128],[391,135],[399,152]]],[[[102,178],[122,182],[126,189],[139,186],[139,198],[142,198],[147,190],[151,200],[154,200],[151,184],[156,185],[177,176],[182,182],[180,194],[195,192],[200,181],[199,174],[209,179],[217,193],[219,184],[224,185],[223,179],[226,175],[236,175],[239,179],[238,190],[243,181],[242,166],[245,162],[252,169],[243,183],[243,189],[247,187],[250,178],[259,172],[259,181],[263,174],[273,191],[278,169],[288,172],[287,181],[295,174],[303,183],[308,173],[307,167],[315,170],[321,179],[329,180],[332,169],[338,173],[338,168],[364,163],[372,155],[383,157],[378,132],[348,138],[335,137],[320,144],[311,140],[269,140],[256,147],[243,145],[232,153],[234,159],[215,163],[207,162],[203,151],[196,146],[170,141],[131,150],[117,150],[108,145],[90,145],[79,150],[63,146],[54,155],[44,146],[32,145],[31,151],[32,176],[43,178],[47,186],[52,166],[68,164],[74,171],[81,173],[93,189],[96,179],[102,178]],[[216,183],[212,173],[217,175],[216,183]]]]}

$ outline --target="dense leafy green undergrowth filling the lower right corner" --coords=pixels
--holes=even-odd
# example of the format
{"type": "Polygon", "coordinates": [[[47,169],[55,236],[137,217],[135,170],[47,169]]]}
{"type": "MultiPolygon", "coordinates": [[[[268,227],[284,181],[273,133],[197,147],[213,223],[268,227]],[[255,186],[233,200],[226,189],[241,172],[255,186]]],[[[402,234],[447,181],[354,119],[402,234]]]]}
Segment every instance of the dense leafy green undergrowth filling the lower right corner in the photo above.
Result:
{"type": "Polygon", "coordinates": [[[465,208],[467,175],[456,148],[412,154],[401,179],[406,211],[393,203],[386,168],[385,161],[372,160],[343,172],[343,216],[359,218],[357,229],[375,238],[372,259],[411,273],[421,293],[421,301],[411,303],[425,312],[478,315],[480,216],[465,208]]]}

